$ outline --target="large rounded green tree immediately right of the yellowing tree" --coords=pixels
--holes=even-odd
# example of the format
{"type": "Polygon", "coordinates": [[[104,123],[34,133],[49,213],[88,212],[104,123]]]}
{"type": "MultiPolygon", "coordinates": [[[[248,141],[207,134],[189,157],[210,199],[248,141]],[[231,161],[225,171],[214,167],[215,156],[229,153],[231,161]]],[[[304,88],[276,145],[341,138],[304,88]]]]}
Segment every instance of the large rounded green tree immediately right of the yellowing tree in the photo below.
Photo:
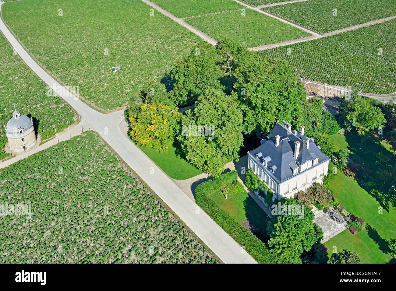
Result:
{"type": "Polygon", "coordinates": [[[238,160],[243,144],[243,117],[238,107],[236,94],[227,96],[212,88],[198,97],[192,111],[187,110],[179,141],[191,164],[218,176],[228,160],[238,160]]]}

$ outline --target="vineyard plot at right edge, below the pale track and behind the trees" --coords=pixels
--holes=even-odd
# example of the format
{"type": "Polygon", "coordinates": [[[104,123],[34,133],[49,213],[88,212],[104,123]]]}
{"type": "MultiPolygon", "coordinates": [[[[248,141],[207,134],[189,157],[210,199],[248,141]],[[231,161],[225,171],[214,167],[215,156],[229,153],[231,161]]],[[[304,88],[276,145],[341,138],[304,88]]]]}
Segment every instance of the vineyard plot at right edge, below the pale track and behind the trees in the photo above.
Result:
{"type": "Polygon", "coordinates": [[[391,20],[259,54],[286,59],[303,78],[352,86],[364,93],[390,94],[396,92],[395,29],[396,20],[391,20]]]}

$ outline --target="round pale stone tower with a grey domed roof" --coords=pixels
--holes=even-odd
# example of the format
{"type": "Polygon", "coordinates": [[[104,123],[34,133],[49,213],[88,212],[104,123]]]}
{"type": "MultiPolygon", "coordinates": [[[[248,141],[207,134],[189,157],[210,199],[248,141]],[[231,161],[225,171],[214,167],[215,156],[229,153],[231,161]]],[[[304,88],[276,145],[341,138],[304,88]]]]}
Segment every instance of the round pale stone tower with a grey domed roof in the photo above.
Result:
{"type": "Polygon", "coordinates": [[[16,109],[4,129],[6,129],[8,145],[12,152],[25,152],[37,143],[33,119],[26,115],[21,115],[16,109]]]}

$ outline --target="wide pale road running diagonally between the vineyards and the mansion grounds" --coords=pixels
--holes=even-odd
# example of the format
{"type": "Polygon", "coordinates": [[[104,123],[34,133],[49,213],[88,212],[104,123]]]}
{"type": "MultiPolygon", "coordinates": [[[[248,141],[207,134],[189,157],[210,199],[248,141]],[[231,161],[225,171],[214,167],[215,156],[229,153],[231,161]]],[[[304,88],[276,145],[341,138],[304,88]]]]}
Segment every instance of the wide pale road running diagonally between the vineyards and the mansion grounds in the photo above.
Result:
{"type": "MultiPolygon", "coordinates": [[[[0,13],[3,3],[0,2],[0,13]]],[[[21,59],[49,87],[62,97],[88,122],[94,131],[112,147],[137,175],[168,205],[172,211],[225,263],[257,263],[244,249],[199,209],[179,187],[157,167],[120,129],[124,111],[103,114],[74,97],[67,89],[43,70],[21,46],[0,20],[0,30],[21,59]]]]}

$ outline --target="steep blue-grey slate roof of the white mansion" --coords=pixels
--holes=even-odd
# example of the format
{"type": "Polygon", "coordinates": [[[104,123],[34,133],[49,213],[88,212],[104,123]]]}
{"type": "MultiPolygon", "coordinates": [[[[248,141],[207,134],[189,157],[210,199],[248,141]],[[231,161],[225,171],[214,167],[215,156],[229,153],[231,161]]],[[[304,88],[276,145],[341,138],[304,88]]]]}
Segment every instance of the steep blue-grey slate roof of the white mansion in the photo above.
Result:
{"type": "MultiPolygon", "coordinates": [[[[270,171],[271,167],[275,166],[276,170],[273,175],[278,179],[279,182],[283,182],[293,177],[293,170],[299,165],[304,164],[308,160],[312,161],[315,158],[318,159],[318,164],[330,160],[320,148],[315,144],[314,139],[309,139],[309,146],[307,148],[306,136],[302,135],[299,131],[288,131],[286,127],[282,126],[278,122],[272,129],[271,133],[267,136],[268,140],[263,139],[261,146],[248,152],[253,156],[253,159],[263,167],[263,159],[267,156],[270,157],[270,161],[267,163],[267,170],[270,171]],[[276,135],[280,135],[280,142],[278,146],[276,144],[276,135]],[[294,158],[295,142],[299,141],[299,154],[297,159],[294,158]],[[261,153],[261,158],[257,160],[256,154],[261,153]]],[[[260,155],[260,154],[259,154],[260,155]]],[[[266,159],[268,160],[268,158],[266,159]]],[[[318,165],[316,164],[316,165],[318,165]]],[[[315,165],[315,166],[316,166],[315,165]]],[[[308,168],[310,169],[310,168],[308,168]]],[[[304,171],[302,172],[304,173],[304,171]]],[[[299,175],[295,174],[296,175],[299,175]]]]}

